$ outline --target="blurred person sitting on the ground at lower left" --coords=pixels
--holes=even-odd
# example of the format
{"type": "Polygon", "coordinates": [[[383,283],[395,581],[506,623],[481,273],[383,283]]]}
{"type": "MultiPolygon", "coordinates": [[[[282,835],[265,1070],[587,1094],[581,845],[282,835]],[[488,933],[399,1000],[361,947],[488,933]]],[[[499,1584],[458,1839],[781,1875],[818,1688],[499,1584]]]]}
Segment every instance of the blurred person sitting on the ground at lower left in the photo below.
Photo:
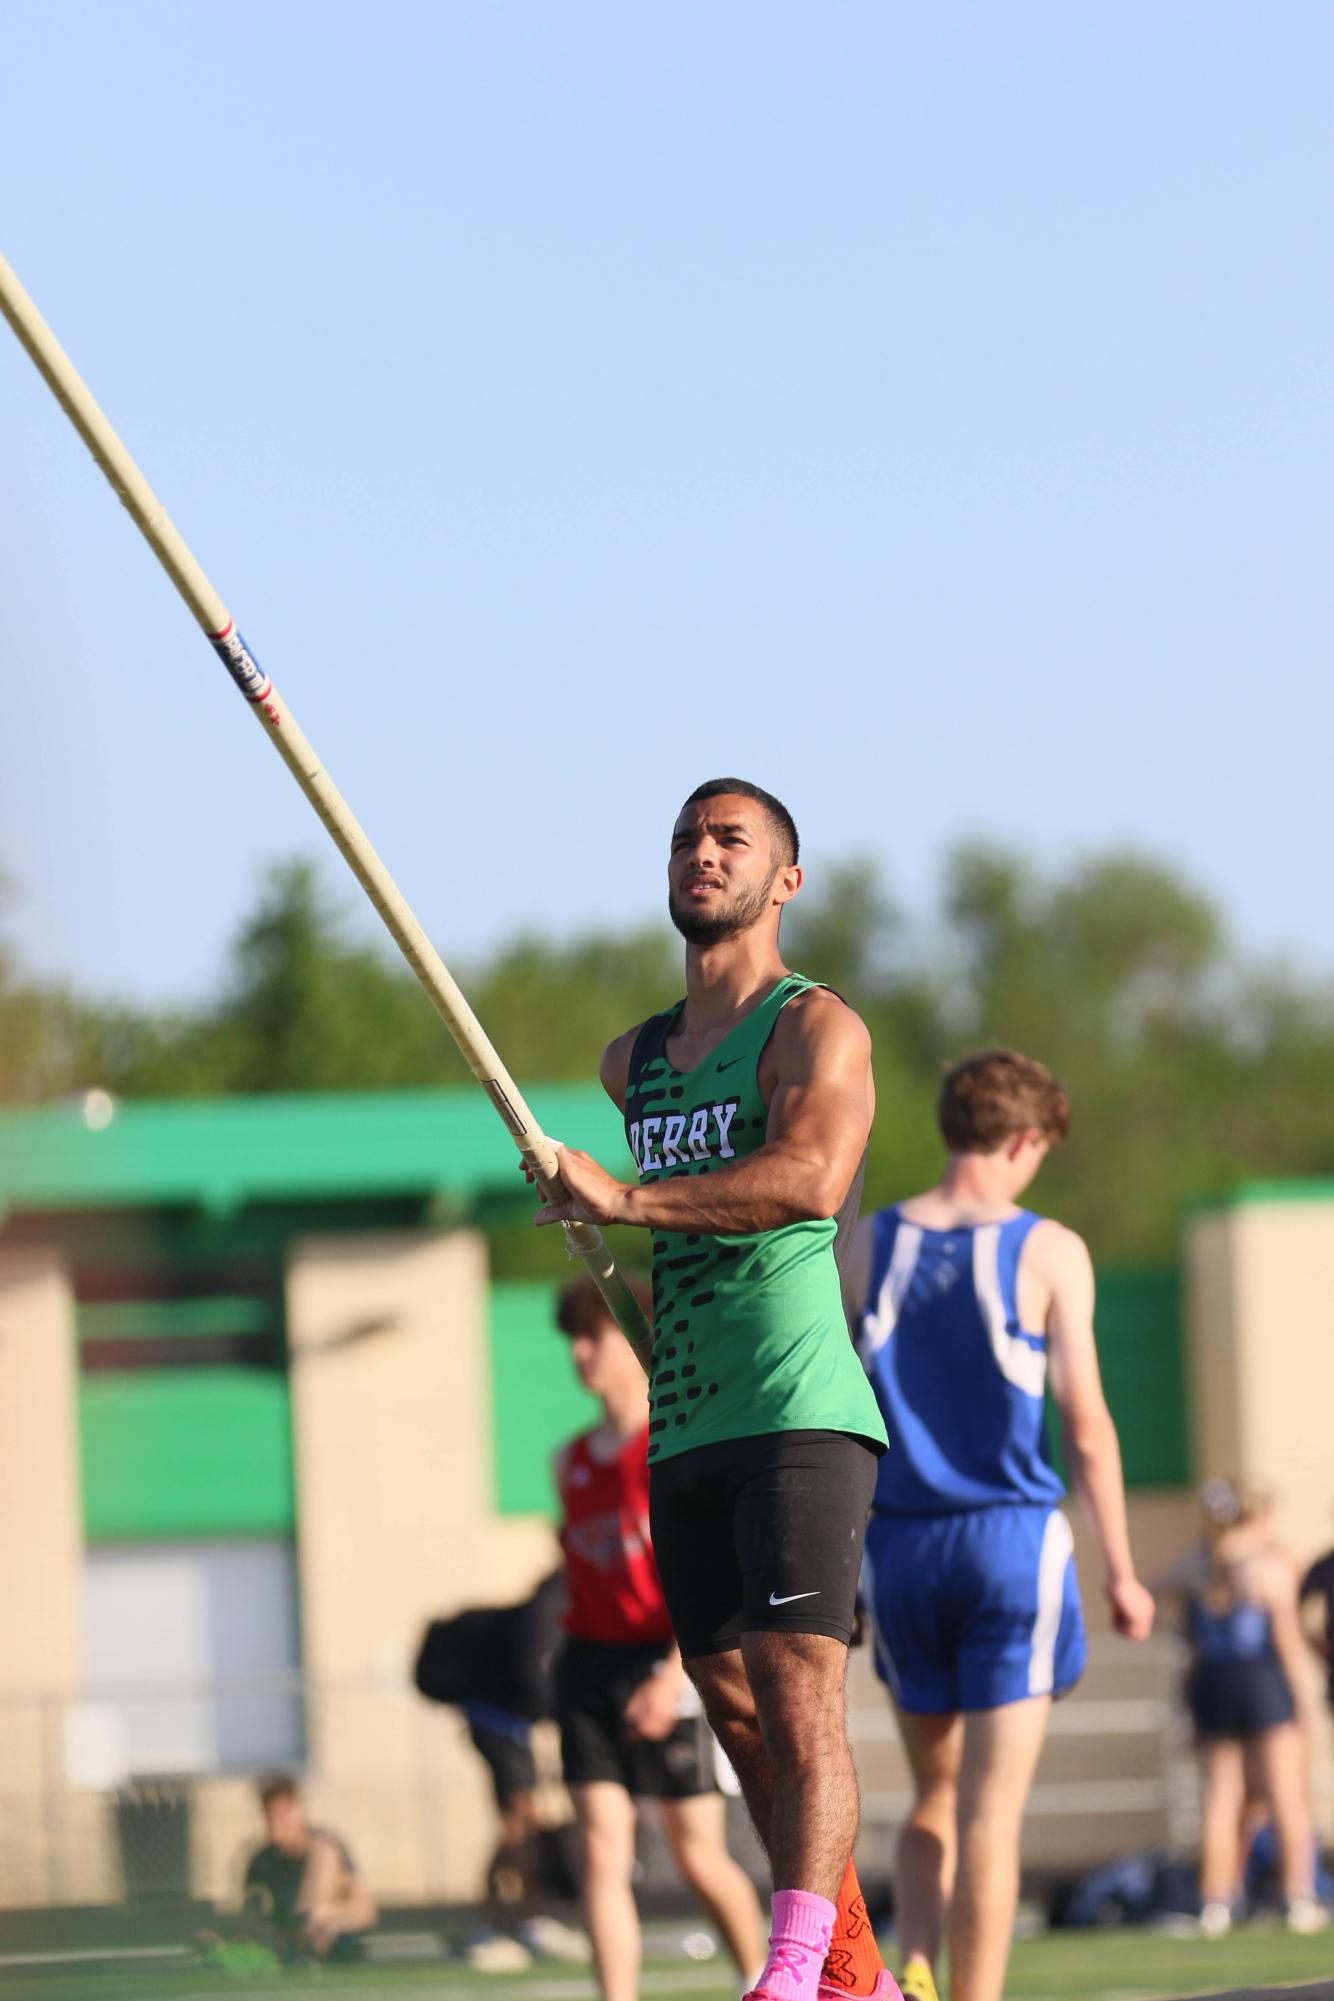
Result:
{"type": "Polygon", "coordinates": [[[294,1779],[266,1779],[260,1805],[268,1841],[246,1865],[246,1915],[284,1959],[360,1959],[378,1911],[346,1843],[308,1823],[294,1779]]]}

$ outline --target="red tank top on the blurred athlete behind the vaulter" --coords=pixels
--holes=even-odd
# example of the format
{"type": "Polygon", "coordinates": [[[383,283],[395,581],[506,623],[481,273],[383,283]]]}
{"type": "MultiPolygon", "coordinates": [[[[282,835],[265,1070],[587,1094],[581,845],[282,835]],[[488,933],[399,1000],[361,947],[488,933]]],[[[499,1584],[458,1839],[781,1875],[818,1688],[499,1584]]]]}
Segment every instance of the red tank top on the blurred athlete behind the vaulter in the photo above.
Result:
{"type": "Polygon", "coordinates": [[[594,1437],[574,1439],[558,1467],[566,1633],[622,1647],[670,1641],[648,1539],[648,1425],[614,1459],[592,1451],[594,1437]]]}

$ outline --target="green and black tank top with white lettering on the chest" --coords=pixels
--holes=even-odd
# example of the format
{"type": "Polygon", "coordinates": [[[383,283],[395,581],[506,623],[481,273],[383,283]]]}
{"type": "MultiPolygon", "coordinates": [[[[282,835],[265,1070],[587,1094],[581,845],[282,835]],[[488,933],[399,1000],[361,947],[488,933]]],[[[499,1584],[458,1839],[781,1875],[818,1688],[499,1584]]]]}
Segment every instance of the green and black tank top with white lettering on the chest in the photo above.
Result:
{"type": "MultiPolygon", "coordinates": [[[[788,1000],[816,984],[788,972],[694,1071],[664,1055],[684,1000],[644,1023],[626,1091],[640,1183],[710,1175],[764,1145],[760,1053],[788,1000]]],[[[776,1231],[654,1231],[650,1461],[768,1431],[848,1431],[884,1449],[838,1285],[836,1243],[856,1223],[860,1191],[858,1173],[838,1217],[776,1231]]]]}

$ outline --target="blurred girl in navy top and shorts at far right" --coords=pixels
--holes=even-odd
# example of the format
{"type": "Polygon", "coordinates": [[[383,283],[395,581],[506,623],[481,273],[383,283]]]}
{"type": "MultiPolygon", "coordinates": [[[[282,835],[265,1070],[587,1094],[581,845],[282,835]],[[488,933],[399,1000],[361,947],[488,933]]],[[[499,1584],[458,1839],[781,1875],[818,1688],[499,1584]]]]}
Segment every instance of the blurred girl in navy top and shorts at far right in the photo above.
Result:
{"type": "Polygon", "coordinates": [[[1200,1927],[1222,1937],[1232,1925],[1252,1801],[1274,1827],[1288,1925],[1320,1931],[1296,1571],[1274,1543],[1268,1495],[1210,1481],[1200,1501],[1204,1543],[1162,1585],[1186,1603],[1186,1701],[1204,1779],[1200,1927]]]}

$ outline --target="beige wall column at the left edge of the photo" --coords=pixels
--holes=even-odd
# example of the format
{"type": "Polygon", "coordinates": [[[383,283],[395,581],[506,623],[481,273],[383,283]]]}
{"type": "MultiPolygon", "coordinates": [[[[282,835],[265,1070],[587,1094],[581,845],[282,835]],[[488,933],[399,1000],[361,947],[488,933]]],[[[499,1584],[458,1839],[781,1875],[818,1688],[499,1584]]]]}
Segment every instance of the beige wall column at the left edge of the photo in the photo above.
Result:
{"type": "Polygon", "coordinates": [[[84,1531],[74,1295],[58,1253],[0,1253],[0,1903],[44,1895],[60,1827],[44,1803],[64,1767],[78,1681],[84,1531]],[[42,1697],[44,1701],[34,1701],[42,1697]]]}

